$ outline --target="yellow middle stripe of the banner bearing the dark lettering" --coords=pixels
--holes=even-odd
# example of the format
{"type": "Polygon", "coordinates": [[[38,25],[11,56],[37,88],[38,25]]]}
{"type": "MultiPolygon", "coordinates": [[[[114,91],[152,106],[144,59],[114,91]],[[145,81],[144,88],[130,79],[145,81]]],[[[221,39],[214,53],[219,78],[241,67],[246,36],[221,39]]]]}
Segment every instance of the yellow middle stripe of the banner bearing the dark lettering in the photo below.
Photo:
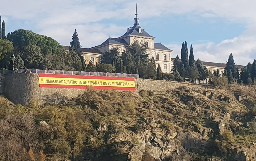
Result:
{"type": "Polygon", "coordinates": [[[105,80],[105,79],[81,79],[81,78],[52,78],[39,77],[39,84],[53,85],[81,85],[81,86],[105,86],[105,87],[135,87],[135,81],[105,80]]]}

